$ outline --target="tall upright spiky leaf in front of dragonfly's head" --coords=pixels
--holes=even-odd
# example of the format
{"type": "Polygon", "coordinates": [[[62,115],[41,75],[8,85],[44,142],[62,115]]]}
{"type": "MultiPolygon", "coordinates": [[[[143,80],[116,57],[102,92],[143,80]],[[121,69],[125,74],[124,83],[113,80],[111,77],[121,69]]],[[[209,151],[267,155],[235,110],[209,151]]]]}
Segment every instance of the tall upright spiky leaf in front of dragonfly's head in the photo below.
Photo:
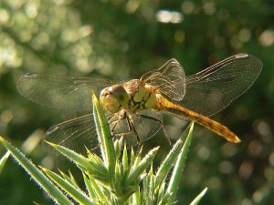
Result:
{"type": "Polygon", "coordinates": [[[101,142],[100,148],[102,148],[102,157],[105,163],[108,165],[108,170],[110,172],[111,178],[114,176],[114,169],[116,163],[113,138],[111,138],[111,130],[108,124],[108,120],[104,115],[103,109],[100,106],[100,102],[94,93],[92,94],[92,103],[94,121],[97,128],[97,134],[101,142]]]}

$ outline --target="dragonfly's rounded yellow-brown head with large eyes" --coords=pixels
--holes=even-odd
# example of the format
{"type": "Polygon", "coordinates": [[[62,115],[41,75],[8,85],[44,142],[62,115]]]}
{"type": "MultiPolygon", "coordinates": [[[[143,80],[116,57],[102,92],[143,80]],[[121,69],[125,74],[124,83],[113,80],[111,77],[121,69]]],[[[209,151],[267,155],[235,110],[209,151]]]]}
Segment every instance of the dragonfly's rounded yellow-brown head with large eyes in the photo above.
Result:
{"type": "Polygon", "coordinates": [[[111,113],[116,113],[128,105],[130,97],[121,85],[106,87],[100,92],[100,103],[111,113]]]}

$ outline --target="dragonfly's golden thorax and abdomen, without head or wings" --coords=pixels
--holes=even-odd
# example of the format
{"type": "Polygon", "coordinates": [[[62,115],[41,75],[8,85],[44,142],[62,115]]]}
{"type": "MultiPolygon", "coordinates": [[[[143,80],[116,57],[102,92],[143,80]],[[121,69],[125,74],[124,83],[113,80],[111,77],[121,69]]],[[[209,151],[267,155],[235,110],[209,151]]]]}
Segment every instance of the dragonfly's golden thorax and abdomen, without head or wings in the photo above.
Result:
{"type": "Polygon", "coordinates": [[[157,111],[167,111],[175,115],[195,121],[197,124],[215,132],[217,135],[226,138],[227,141],[238,143],[240,139],[227,127],[211,118],[207,118],[192,110],[178,106],[168,100],[155,88],[146,85],[142,80],[134,79],[122,85],[128,94],[128,103],[124,108],[130,114],[142,109],[153,108],[157,111]]]}

